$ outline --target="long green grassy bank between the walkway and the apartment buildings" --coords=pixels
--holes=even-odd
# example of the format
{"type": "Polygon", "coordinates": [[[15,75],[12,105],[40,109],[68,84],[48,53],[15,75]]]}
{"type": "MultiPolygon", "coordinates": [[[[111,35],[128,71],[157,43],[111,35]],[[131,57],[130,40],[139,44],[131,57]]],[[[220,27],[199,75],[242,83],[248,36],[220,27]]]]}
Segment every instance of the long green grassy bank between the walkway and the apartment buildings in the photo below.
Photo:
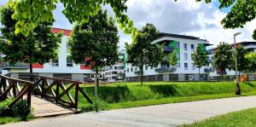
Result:
{"type": "MultiPolygon", "coordinates": [[[[84,85],[82,89],[94,101],[94,86],[84,85]]],[[[74,95],[74,89],[71,90],[74,95]]],[[[242,95],[256,95],[256,82],[241,83],[242,95]]],[[[143,107],[183,101],[200,101],[235,97],[234,82],[148,82],[116,83],[102,85],[98,89],[99,109],[109,110],[127,107],[143,107]]],[[[67,99],[67,96],[63,96],[67,99]]],[[[82,95],[79,95],[79,108],[93,111],[82,95]]]]}

